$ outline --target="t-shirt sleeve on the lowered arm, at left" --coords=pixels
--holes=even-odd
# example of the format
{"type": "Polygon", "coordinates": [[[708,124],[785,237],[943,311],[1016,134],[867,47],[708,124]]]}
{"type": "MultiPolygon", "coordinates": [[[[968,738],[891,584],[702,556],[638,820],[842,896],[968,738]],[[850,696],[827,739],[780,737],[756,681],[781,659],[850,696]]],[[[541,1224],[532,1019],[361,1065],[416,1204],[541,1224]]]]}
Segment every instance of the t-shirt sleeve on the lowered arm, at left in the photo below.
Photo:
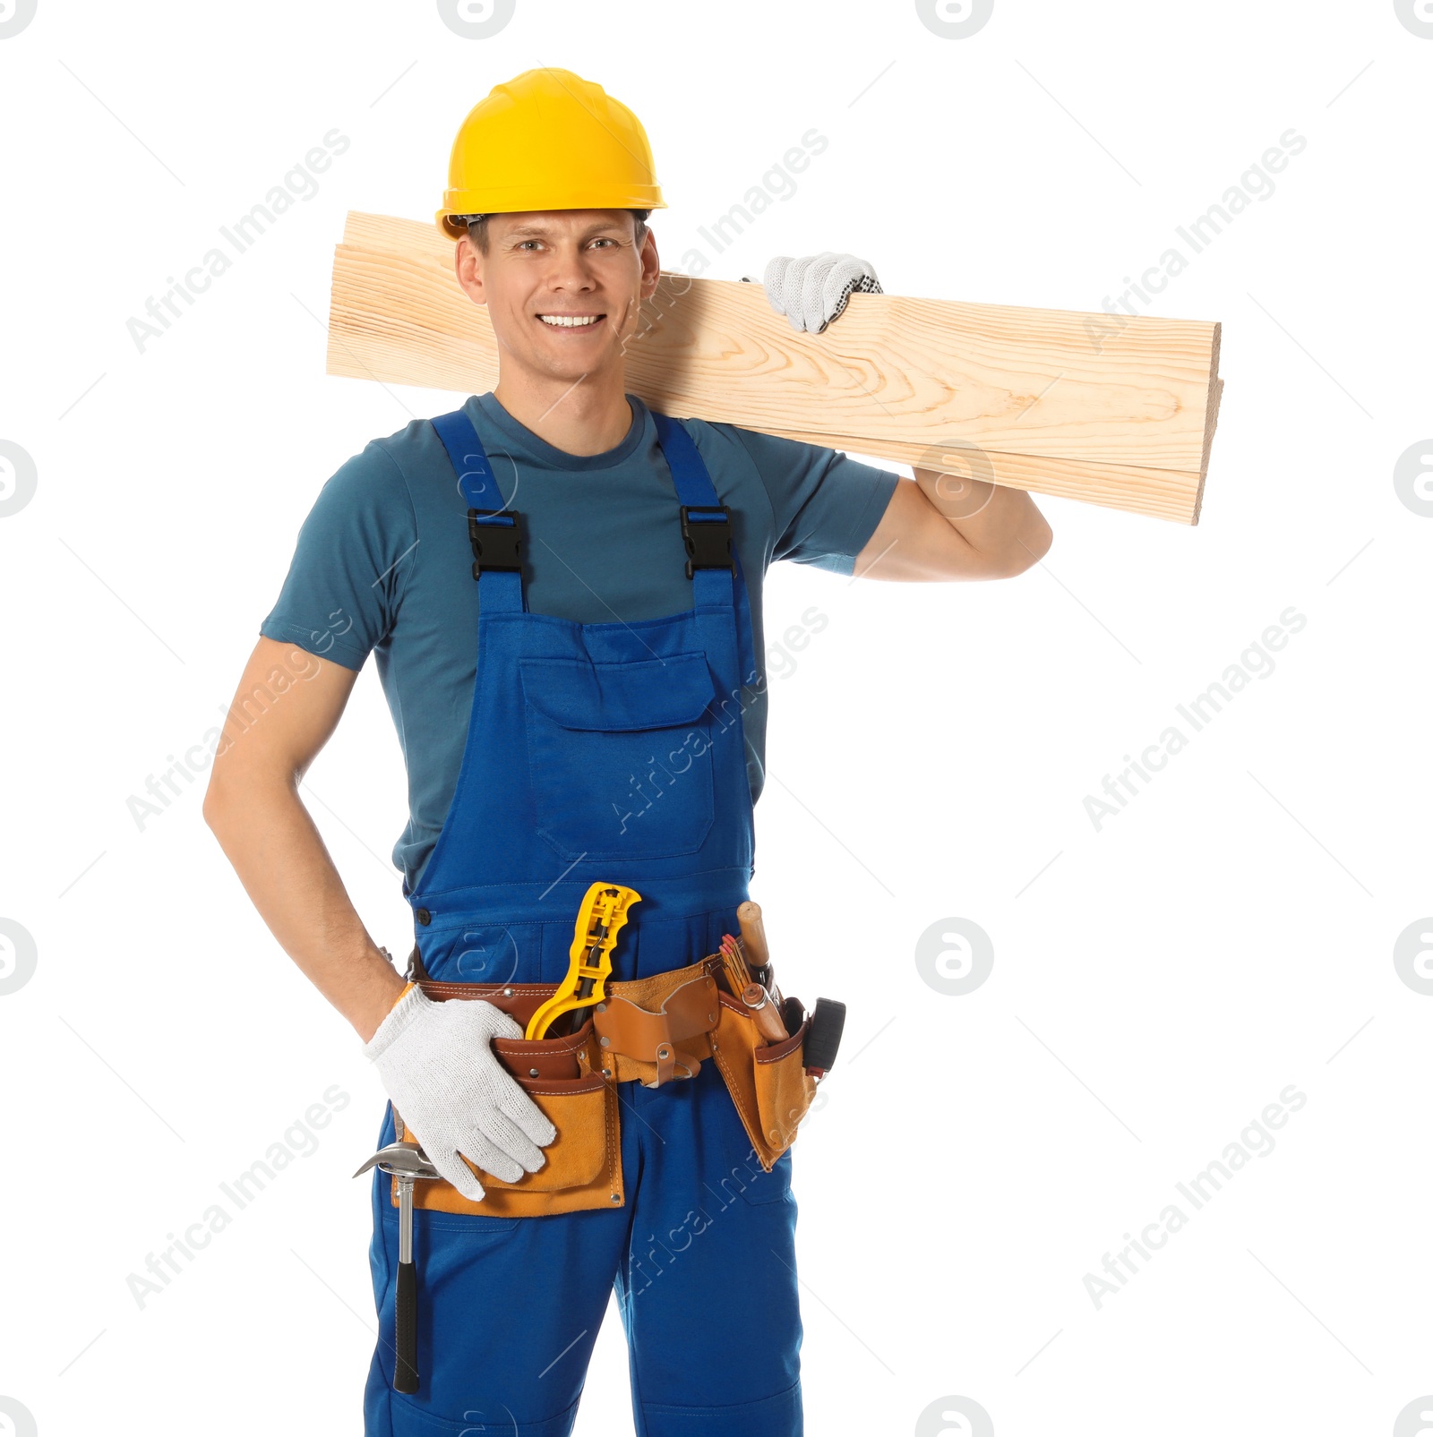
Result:
{"type": "Polygon", "coordinates": [[[381,444],[369,444],[319,490],[259,632],[362,668],[394,625],[413,572],[404,560],[417,540],[402,470],[381,444]]]}

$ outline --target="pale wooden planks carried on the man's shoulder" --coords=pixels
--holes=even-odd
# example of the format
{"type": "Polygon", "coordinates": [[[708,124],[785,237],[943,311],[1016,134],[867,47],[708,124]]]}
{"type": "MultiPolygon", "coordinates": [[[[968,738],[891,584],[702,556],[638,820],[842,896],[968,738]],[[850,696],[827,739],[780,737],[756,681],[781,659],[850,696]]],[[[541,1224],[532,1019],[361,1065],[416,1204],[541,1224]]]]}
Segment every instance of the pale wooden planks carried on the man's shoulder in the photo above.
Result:
{"type": "MultiPolygon", "coordinates": [[[[660,412],[895,463],[979,451],[1000,484],[1196,523],[1219,325],[1120,320],[852,295],[824,335],[801,335],[759,285],[664,272],[627,341],[627,387],[660,412]]],[[[349,214],[328,372],[463,394],[497,382],[487,310],[434,226],[349,214]]]]}

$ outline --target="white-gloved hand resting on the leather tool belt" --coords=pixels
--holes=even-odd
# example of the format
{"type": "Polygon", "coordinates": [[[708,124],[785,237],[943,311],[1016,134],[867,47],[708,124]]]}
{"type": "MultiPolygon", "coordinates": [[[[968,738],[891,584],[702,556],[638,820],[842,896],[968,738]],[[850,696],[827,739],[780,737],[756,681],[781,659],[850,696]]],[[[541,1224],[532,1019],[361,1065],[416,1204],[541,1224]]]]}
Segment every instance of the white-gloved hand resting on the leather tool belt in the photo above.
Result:
{"type": "Polygon", "coordinates": [[[494,1038],[522,1036],[492,1003],[434,1003],[411,987],[364,1046],[428,1161],[474,1203],[483,1200],[483,1184],[460,1152],[484,1173],[516,1183],[548,1161],[542,1148],[558,1135],[492,1049],[494,1038]]]}

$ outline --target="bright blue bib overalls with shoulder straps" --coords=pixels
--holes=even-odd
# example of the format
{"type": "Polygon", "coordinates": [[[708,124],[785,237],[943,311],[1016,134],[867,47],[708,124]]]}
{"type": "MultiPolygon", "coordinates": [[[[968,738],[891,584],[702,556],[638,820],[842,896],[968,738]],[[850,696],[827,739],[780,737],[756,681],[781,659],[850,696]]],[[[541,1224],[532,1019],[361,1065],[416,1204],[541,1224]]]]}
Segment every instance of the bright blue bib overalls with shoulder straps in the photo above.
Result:
{"type": "MultiPolygon", "coordinates": [[[[686,430],[653,420],[676,494],[671,547],[651,562],[680,565],[678,504],[691,532],[722,510],[686,430]]],[[[433,424],[469,506],[487,510],[470,519],[487,552],[512,512],[467,415],[433,424]]],[[[739,931],[755,842],[740,688],[757,681],[750,611],[740,560],[734,573],[690,576],[690,609],[578,624],[529,612],[520,570],[481,568],[457,792],[418,890],[405,892],[431,979],[559,981],[595,879],[642,895],[614,979],[686,967],[739,931]]],[[[368,1437],[571,1433],[614,1283],[641,1437],[801,1433],[791,1154],[760,1170],[714,1062],[617,1091],[622,1207],[414,1213],[415,1397],[391,1387],[398,1216],[390,1180],[374,1174],[368,1437]]],[[[390,1106],[378,1142],[392,1140],[390,1106]]]]}

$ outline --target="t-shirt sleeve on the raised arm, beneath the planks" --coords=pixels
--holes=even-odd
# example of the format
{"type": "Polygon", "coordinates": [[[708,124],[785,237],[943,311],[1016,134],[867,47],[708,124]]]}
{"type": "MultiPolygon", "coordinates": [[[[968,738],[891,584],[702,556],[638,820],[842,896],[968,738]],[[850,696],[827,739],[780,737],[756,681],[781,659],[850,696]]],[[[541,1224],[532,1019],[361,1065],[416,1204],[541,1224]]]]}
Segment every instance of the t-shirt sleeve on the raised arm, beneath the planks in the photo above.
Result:
{"type": "Polygon", "coordinates": [[[898,474],[818,444],[736,430],[756,464],[776,516],[772,559],[852,573],[875,533],[898,474]]]}

